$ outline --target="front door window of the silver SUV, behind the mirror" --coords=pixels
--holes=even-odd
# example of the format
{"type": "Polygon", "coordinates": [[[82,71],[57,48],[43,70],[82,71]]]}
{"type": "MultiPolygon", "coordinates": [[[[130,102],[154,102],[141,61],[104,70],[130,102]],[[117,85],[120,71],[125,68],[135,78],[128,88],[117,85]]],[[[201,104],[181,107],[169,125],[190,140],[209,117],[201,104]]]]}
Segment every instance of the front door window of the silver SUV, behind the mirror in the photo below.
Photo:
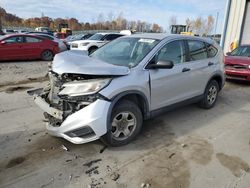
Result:
{"type": "Polygon", "coordinates": [[[166,44],[155,56],[155,61],[172,61],[174,64],[185,62],[183,41],[173,41],[166,44]]]}

